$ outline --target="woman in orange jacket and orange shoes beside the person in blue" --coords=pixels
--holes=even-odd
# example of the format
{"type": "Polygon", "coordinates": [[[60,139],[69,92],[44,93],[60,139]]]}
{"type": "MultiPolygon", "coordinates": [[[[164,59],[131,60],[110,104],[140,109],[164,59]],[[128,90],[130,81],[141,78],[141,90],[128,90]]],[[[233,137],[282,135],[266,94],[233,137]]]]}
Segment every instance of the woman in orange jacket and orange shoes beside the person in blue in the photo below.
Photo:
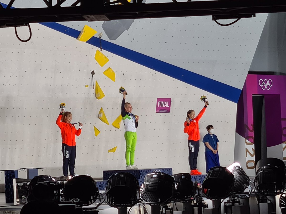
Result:
{"type": "MultiPolygon", "coordinates": [[[[208,104],[208,103],[207,103],[208,104]]],[[[198,116],[195,117],[195,111],[189,110],[187,112],[187,119],[184,122],[184,132],[188,133],[188,148],[189,148],[189,165],[191,175],[202,174],[196,168],[198,151],[200,148],[200,130],[198,122],[206,110],[207,105],[202,108],[198,116]]]]}

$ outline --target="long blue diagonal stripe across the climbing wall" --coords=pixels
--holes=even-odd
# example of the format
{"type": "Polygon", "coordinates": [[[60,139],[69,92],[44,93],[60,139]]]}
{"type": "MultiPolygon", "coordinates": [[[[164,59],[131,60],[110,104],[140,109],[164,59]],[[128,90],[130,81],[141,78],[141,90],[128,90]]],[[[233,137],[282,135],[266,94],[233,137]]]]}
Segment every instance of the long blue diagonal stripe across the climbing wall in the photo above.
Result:
{"type": "MultiPolygon", "coordinates": [[[[7,5],[1,3],[5,8],[7,5]]],[[[65,25],[61,25],[55,22],[48,23],[40,23],[46,27],[64,33],[65,35],[78,38],[80,35],[80,31],[69,28],[65,25]]],[[[93,45],[95,47],[100,47],[99,38],[92,37],[86,43],[93,45]]],[[[162,74],[166,74],[172,78],[230,100],[232,102],[237,103],[239,96],[241,94],[241,90],[235,88],[233,86],[229,86],[222,82],[210,79],[208,77],[202,76],[200,74],[196,74],[194,72],[188,71],[186,69],[180,68],[178,66],[174,66],[167,62],[163,62],[161,60],[152,58],[150,56],[138,53],[136,51],[132,51],[128,48],[124,48],[120,45],[116,45],[114,43],[102,40],[102,47],[105,51],[116,54],[138,64],[141,64],[147,68],[151,68],[152,70],[156,70],[162,74]]]]}

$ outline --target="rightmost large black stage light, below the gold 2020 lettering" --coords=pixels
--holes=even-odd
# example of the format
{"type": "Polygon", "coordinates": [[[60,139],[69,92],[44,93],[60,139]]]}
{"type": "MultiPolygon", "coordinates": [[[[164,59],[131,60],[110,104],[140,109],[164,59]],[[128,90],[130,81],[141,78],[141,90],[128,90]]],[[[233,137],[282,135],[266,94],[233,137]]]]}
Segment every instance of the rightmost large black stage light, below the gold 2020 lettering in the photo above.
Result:
{"type": "Polygon", "coordinates": [[[265,158],[257,162],[255,189],[265,196],[283,193],[286,187],[285,164],[278,158],[265,158]]]}

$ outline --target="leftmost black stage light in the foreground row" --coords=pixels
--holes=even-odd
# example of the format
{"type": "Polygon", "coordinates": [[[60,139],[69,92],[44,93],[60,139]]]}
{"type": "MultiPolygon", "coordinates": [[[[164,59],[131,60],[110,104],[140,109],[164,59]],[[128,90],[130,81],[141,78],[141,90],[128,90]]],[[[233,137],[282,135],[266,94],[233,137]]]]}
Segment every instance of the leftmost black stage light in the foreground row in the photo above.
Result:
{"type": "Polygon", "coordinates": [[[62,185],[50,175],[35,176],[29,183],[27,201],[48,200],[58,202],[62,185]]]}

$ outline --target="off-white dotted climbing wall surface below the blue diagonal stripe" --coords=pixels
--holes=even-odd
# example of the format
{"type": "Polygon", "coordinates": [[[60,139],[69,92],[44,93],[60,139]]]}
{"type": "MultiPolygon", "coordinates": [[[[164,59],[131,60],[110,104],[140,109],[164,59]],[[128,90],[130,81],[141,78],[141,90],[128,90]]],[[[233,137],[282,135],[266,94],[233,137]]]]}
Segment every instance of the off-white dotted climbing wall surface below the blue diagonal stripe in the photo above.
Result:
{"type": "MultiPolygon", "coordinates": [[[[100,108],[110,123],[120,115],[120,86],[128,91],[126,102],[132,104],[132,112],[140,116],[135,156],[139,167],[189,171],[183,123],[189,109],[198,114],[204,106],[201,95],[210,102],[200,120],[201,139],[205,127],[212,124],[220,140],[221,165],[233,162],[235,103],[104,50],[109,62],[100,67],[94,60],[96,47],[40,24],[31,24],[31,28],[33,37],[27,43],[19,42],[11,28],[0,34],[1,169],[47,167],[40,173],[62,175],[61,134],[55,124],[61,102],[72,112],[73,122],[84,124],[82,134],[76,137],[76,173],[102,177],[102,170],[124,169],[123,123],[115,129],[98,118],[100,108]],[[102,74],[108,67],[116,72],[116,82],[102,74]],[[101,100],[92,89],[92,70],[94,82],[105,94],[101,100]],[[172,98],[170,114],[155,113],[156,98],[172,98]],[[97,137],[93,126],[101,131],[97,137]],[[116,152],[108,153],[115,146],[116,152]]],[[[26,30],[19,28],[19,35],[25,37],[26,30]]],[[[205,170],[202,143],[198,169],[205,170]]],[[[4,176],[0,178],[3,182],[4,176]]]]}

